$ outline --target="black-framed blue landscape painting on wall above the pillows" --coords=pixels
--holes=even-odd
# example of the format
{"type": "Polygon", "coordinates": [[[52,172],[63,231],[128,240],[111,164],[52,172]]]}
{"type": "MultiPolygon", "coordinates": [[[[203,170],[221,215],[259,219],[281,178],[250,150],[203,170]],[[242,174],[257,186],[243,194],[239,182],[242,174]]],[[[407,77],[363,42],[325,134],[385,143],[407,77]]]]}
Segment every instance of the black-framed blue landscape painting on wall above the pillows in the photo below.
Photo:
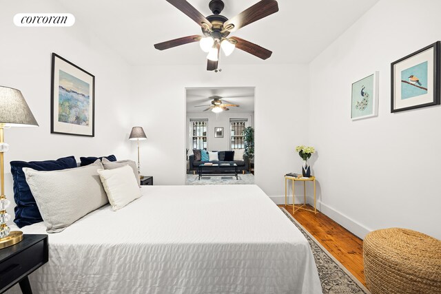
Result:
{"type": "Polygon", "coordinates": [[[95,76],[52,53],[51,134],[95,136],[95,76]]]}

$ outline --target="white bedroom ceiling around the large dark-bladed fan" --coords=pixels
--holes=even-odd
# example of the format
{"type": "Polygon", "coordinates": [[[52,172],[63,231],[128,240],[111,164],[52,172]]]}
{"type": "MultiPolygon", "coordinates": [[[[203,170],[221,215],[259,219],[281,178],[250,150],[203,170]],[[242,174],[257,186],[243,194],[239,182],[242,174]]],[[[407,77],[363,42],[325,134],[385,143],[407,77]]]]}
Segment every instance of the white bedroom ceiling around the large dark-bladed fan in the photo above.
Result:
{"type": "MultiPolygon", "coordinates": [[[[188,0],[208,16],[209,0],[188,0]]],[[[241,28],[231,36],[273,52],[266,61],[241,50],[220,56],[221,64],[309,63],[379,0],[278,0],[279,11],[241,28]]],[[[201,28],[165,0],[61,0],[75,25],[92,32],[130,65],[194,64],[206,67],[198,43],[169,50],[155,43],[192,34],[201,28]]],[[[258,0],[224,0],[221,14],[232,18],[258,0]]]]}

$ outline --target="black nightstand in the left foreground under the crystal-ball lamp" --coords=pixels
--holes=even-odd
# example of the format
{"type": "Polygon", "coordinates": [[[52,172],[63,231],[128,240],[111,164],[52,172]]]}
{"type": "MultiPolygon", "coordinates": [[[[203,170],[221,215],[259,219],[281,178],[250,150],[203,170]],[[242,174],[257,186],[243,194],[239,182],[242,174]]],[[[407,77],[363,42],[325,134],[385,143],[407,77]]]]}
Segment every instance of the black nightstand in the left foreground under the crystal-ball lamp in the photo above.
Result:
{"type": "Polygon", "coordinates": [[[0,249],[0,293],[17,283],[23,294],[32,293],[28,275],[48,260],[48,235],[23,235],[21,242],[0,249]]]}

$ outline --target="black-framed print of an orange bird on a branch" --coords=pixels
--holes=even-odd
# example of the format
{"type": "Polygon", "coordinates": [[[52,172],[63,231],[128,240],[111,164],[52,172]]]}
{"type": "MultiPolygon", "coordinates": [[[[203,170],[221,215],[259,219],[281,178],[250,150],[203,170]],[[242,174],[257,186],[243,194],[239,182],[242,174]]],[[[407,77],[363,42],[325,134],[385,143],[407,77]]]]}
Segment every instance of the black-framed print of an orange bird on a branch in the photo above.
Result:
{"type": "Polygon", "coordinates": [[[391,112],[440,104],[440,41],[391,63],[391,112]]]}

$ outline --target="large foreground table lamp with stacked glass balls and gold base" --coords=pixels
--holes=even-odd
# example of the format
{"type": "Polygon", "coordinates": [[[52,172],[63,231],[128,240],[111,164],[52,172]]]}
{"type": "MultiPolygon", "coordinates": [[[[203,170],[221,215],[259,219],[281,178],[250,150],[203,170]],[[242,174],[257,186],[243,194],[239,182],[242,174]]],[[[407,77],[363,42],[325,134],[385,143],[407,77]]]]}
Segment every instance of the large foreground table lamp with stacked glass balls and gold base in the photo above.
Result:
{"type": "Polygon", "coordinates": [[[38,127],[38,125],[21,92],[17,89],[0,86],[0,249],[23,240],[23,232],[10,231],[10,227],[6,224],[10,219],[6,211],[10,200],[5,196],[4,153],[8,151],[9,145],[4,143],[3,130],[10,127],[38,127]]]}

